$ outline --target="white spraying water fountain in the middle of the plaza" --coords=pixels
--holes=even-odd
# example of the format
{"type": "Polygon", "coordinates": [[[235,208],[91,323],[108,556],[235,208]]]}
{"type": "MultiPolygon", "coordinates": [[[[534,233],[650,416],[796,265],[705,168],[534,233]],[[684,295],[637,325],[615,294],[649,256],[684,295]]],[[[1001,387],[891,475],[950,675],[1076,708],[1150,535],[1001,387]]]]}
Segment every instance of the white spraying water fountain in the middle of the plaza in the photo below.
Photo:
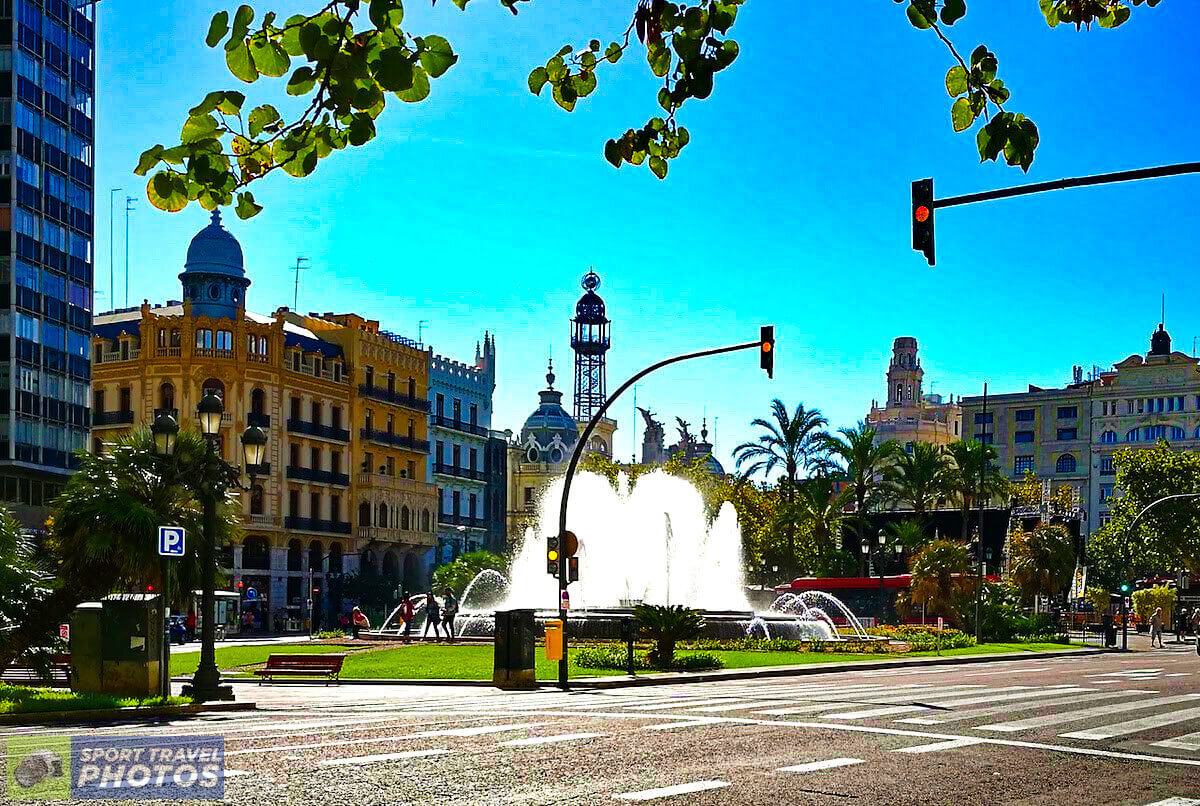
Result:
{"type": "MultiPolygon", "coordinates": [[[[560,481],[544,495],[538,529],[526,531],[506,588],[496,571],[467,585],[461,634],[491,634],[494,609],[530,608],[539,620],[557,615],[547,609],[558,601],[558,581],[546,573],[545,536],[558,530],[560,495],[560,481]]],[[[632,487],[620,476],[613,487],[602,476],[580,474],[568,522],[580,539],[580,581],[570,587],[574,636],[617,638],[632,604],[649,602],[703,609],[710,637],[836,640],[839,626],[866,637],[854,614],[822,591],[785,594],[755,613],[745,595],[733,505],[722,505],[709,522],[700,492],[677,476],[652,471],[632,487]]]]}

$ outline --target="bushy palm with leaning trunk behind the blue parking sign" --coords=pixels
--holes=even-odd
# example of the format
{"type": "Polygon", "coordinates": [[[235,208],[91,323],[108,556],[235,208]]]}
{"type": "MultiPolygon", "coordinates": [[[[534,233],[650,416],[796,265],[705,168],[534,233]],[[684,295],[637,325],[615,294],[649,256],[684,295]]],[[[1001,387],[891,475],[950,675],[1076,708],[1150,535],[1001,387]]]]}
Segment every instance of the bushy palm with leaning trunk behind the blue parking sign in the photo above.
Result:
{"type": "MultiPolygon", "coordinates": [[[[161,588],[160,525],[180,525],[190,535],[187,555],[172,560],[173,590],[181,596],[199,587],[202,507],[194,491],[179,480],[194,475],[205,450],[198,432],[181,431],[174,456],[162,459],[150,431],[140,428],[106,453],[79,455],[79,470],[53,505],[54,590],[0,638],[0,669],[40,645],[80,602],[149,583],[161,588]]],[[[240,512],[234,499],[217,507],[217,546],[232,542],[240,512]]]]}

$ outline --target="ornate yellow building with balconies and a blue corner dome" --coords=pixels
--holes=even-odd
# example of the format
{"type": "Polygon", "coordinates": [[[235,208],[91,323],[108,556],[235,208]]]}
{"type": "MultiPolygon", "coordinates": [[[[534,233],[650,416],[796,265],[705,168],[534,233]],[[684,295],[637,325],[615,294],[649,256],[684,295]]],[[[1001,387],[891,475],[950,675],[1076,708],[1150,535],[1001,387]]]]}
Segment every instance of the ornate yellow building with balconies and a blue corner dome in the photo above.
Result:
{"type": "Polygon", "coordinates": [[[431,353],[356,314],[247,312],[241,247],[216,213],[180,281],[181,302],[95,318],[92,450],[160,409],[188,427],[206,389],[226,403],[228,461],[241,458],[241,429],[266,431],[266,462],[242,495],[246,534],[226,560],[257,628],[299,626],[310,596],[328,624],[348,606],[343,575],[425,584],[431,353]]]}

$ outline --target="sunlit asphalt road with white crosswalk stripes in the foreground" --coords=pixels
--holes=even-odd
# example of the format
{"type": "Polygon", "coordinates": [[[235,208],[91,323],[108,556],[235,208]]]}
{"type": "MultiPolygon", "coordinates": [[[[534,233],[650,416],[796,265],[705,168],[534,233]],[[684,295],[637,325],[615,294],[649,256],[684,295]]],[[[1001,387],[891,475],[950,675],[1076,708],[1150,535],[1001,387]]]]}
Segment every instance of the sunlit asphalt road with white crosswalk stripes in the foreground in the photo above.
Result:
{"type": "Polygon", "coordinates": [[[262,710],[0,736],[223,735],[236,804],[1200,805],[1190,645],[568,693],[238,696],[262,710]]]}

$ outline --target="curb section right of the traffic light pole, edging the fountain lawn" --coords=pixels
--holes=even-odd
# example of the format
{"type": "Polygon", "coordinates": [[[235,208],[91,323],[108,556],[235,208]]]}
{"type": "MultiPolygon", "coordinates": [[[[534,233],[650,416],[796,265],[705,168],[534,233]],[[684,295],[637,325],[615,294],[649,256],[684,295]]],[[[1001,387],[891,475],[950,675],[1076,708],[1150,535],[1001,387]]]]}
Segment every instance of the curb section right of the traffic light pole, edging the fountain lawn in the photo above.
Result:
{"type": "Polygon", "coordinates": [[[1103,655],[1105,649],[1063,649],[1044,652],[997,652],[995,655],[949,655],[942,657],[911,657],[898,661],[848,661],[842,663],[806,663],[804,666],[762,666],[722,672],[676,672],[649,674],[640,678],[584,678],[571,680],[574,688],[625,688],[629,686],[665,686],[680,682],[714,682],[721,680],[754,680],[756,678],[790,678],[812,674],[854,672],[858,669],[899,669],[905,667],[955,666],[958,663],[988,663],[990,661],[1028,661],[1048,657],[1082,657],[1103,655]]]}

